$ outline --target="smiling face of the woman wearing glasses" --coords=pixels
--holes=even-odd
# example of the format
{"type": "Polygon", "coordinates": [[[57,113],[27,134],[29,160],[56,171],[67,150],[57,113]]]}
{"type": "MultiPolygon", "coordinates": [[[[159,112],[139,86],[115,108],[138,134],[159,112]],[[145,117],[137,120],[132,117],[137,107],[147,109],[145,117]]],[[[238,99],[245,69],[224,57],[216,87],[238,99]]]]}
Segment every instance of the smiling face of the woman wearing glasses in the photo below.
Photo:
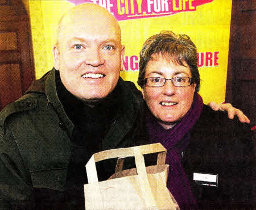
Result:
{"type": "MultiPolygon", "coordinates": [[[[145,77],[192,77],[189,67],[175,65],[168,62],[161,54],[154,54],[147,66],[145,77]]],[[[184,65],[188,66],[186,62],[184,65]]],[[[171,80],[167,80],[162,87],[148,87],[142,89],[143,98],[152,114],[166,129],[171,128],[177,120],[187,114],[193,102],[196,84],[186,87],[175,87],[171,80]]]]}

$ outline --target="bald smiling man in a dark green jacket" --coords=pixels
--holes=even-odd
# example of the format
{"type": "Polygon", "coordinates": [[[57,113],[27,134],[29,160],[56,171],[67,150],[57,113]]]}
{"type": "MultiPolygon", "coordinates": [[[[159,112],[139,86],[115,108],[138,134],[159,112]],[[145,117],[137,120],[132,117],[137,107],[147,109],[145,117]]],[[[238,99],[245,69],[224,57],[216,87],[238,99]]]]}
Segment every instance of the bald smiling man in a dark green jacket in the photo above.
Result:
{"type": "MultiPolygon", "coordinates": [[[[124,51],[104,8],[84,4],[64,14],[55,69],[0,115],[1,208],[84,209],[90,156],[143,144],[142,97],[119,77],[124,51]]],[[[100,163],[100,180],[113,173],[110,165],[100,163]]]]}

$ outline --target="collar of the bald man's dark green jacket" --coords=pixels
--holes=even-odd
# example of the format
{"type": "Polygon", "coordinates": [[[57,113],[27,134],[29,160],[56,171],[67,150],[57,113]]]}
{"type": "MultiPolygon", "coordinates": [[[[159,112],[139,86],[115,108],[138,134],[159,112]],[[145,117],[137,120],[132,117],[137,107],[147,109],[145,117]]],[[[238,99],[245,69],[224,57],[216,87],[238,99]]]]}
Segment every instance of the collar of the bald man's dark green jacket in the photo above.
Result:
{"type": "MultiPolygon", "coordinates": [[[[27,90],[26,93],[40,93],[46,94],[47,104],[52,104],[55,112],[61,120],[60,123],[64,124],[64,127],[68,131],[68,136],[72,137],[72,132],[74,124],[65,114],[63,105],[61,104],[56,90],[56,81],[55,81],[55,69],[53,68],[50,72],[46,73],[42,78],[34,81],[27,90]]],[[[110,126],[109,132],[106,134],[103,142],[103,149],[114,148],[118,143],[125,137],[125,135],[133,127],[135,119],[137,117],[137,112],[140,108],[141,100],[138,99],[138,96],[134,94],[134,91],[121,77],[119,77],[118,84],[121,90],[120,96],[122,97],[119,100],[119,108],[115,114],[114,121],[110,126]]],[[[135,86],[134,86],[135,88],[135,86]]]]}

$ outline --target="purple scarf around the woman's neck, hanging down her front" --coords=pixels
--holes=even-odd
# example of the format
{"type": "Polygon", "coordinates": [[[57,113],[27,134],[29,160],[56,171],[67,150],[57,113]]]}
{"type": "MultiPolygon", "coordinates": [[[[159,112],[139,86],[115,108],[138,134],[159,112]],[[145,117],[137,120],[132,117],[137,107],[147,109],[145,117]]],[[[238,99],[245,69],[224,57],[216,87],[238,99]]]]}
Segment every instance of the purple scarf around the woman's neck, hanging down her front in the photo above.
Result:
{"type": "Polygon", "coordinates": [[[195,93],[192,106],[187,114],[170,129],[164,129],[149,111],[146,114],[146,126],[150,141],[160,142],[167,149],[166,164],[170,165],[167,187],[179,204],[180,209],[197,208],[196,199],[180,161],[182,158],[181,152],[189,144],[189,130],[196,123],[202,110],[203,99],[195,93]]]}

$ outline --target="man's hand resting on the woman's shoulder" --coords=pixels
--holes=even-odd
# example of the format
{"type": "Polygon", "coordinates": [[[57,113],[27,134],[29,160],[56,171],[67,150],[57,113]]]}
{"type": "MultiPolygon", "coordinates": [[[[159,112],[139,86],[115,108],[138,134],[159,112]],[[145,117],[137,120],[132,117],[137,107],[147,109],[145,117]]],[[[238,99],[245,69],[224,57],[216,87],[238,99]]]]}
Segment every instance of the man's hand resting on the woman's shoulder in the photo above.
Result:
{"type": "Polygon", "coordinates": [[[227,111],[229,119],[233,119],[234,116],[237,115],[241,123],[250,123],[248,117],[246,117],[241,110],[238,110],[238,108],[234,108],[230,103],[217,104],[215,102],[209,102],[207,105],[214,111],[227,111]]]}

